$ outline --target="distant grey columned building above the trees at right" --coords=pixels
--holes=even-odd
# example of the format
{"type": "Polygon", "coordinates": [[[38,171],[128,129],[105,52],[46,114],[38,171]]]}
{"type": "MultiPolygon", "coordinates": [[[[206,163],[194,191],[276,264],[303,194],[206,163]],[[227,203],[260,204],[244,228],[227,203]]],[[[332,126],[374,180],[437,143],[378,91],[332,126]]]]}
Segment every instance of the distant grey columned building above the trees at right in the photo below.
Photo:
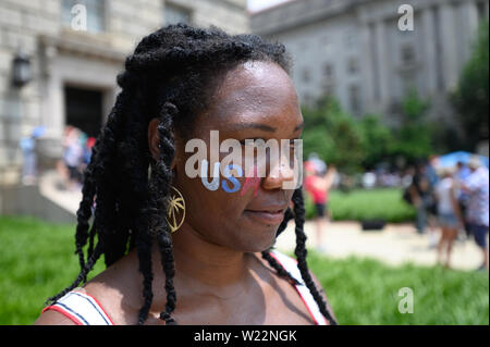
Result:
{"type": "Polygon", "coordinates": [[[334,95],[353,114],[390,122],[414,87],[430,97],[432,116],[451,119],[448,91],[488,11],[488,0],[290,0],[253,13],[250,28],[285,44],[304,103],[334,95]],[[403,4],[413,10],[412,30],[399,26],[403,4]]]}

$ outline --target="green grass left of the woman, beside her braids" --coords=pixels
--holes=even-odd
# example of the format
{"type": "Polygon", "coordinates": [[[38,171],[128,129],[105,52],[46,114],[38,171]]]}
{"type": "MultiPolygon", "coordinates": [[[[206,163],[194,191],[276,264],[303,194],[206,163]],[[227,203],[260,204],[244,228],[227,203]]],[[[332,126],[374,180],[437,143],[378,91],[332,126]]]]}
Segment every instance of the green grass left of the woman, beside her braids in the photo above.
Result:
{"type": "MultiPolygon", "coordinates": [[[[0,216],[0,324],[32,324],[79,271],[74,225],[0,216]]],[[[95,273],[103,269],[100,260],[95,273]]]]}

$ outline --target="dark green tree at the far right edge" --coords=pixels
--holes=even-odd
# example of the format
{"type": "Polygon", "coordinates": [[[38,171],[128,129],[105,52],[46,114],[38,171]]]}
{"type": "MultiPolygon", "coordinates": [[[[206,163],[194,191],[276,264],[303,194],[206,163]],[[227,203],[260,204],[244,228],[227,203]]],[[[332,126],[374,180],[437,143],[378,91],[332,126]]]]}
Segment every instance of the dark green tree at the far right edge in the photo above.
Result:
{"type": "Polygon", "coordinates": [[[478,30],[471,58],[465,64],[460,83],[452,95],[464,132],[466,150],[474,151],[479,141],[489,138],[489,24],[485,21],[478,30]]]}

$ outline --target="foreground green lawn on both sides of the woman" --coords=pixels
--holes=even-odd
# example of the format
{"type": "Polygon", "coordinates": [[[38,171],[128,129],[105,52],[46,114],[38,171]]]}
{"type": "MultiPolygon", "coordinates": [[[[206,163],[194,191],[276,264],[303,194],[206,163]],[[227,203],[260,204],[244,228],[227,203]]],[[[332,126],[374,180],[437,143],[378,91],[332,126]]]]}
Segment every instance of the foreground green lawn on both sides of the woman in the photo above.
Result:
{"type": "MultiPolygon", "coordinates": [[[[0,324],[30,324],[48,296],[78,273],[74,226],[0,216],[0,324]],[[60,267],[60,264],[62,264],[60,267]]],[[[322,259],[311,270],[326,288],[342,324],[488,324],[489,282],[485,273],[372,260],[322,259]],[[397,290],[414,290],[414,313],[397,312],[397,290]]],[[[102,260],[91,276],[103,269],[102,260]]]]}

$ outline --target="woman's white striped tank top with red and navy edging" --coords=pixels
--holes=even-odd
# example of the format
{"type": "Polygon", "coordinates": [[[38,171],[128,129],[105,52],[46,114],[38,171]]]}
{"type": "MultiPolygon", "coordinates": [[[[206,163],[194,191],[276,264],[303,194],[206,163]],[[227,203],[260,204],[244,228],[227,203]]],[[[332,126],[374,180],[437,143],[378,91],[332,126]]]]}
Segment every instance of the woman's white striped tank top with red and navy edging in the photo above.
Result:
{"type": "MultiPolygon", "coordinates": [[[[298,285],[293,284],[293,286],[305,303],[314,322],[317,325],[328,325],[328,321],[320,312],[311,293],[309,293],[308,287],[303,282],[296,260],[277,250],[271,251],[271,256],[299,282],[298,285]]],[[[96,298],[78,290],[69,292],[57,302],[46,307],[42,312],[47,310],[57,311],[77,325],[114,325],[96,298]]]]}

